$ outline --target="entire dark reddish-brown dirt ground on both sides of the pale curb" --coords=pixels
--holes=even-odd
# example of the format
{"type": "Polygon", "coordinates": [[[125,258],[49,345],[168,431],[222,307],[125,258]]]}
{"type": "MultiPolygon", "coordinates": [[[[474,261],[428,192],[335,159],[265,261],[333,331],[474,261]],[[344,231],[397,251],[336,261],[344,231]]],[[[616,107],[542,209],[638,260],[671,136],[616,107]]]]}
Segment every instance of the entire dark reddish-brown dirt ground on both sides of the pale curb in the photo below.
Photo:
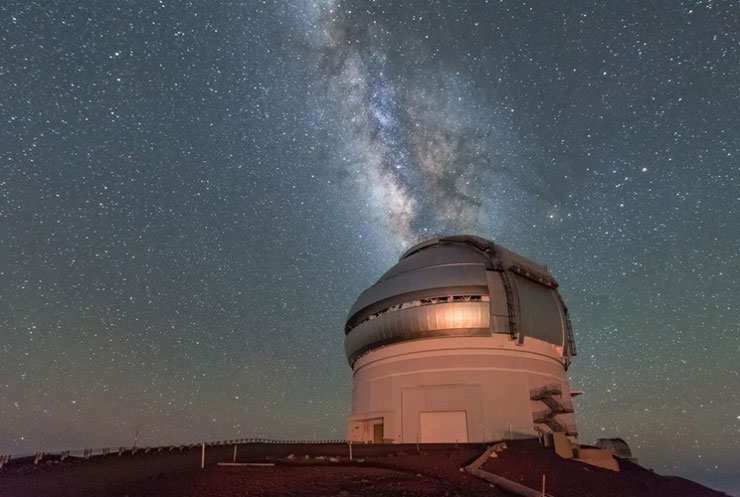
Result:
{"type": "MultiPolygon", "coordinates": [[[[547,475],[553,497],[720,497],[724,494],[676,477],[621,462],[612,472],[559,458],[536,440],[508,442],[483,470],[539,489],[547,475]]],[[[485,449],[365,445],[350,461],[342,444],[245,444],[238,461],[275,466],[218,466],[231,461],[233,446],[209,447],[206,467],[200,451],[107,455],[89,460],[49,458],[34,466],[16,461],[0,471],[0,497],[237,497],[237,496],[505,496],[460,468],[485,449]],[[330,457],[332,459],[330,459],[330,457]]]]}

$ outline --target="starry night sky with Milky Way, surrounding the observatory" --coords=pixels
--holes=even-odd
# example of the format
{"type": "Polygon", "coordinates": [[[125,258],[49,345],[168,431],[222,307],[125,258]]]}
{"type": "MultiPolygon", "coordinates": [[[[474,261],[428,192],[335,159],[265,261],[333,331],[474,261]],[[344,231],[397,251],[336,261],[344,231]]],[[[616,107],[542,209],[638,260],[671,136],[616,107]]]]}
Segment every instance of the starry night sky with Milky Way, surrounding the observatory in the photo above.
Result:
{"type": "Polygon", "coordinates": [[[740,494],[740,5],[385,3],[0,3],[0,453],[344,438],[350,305],[470,233],[582,442],[740,494]]]}

